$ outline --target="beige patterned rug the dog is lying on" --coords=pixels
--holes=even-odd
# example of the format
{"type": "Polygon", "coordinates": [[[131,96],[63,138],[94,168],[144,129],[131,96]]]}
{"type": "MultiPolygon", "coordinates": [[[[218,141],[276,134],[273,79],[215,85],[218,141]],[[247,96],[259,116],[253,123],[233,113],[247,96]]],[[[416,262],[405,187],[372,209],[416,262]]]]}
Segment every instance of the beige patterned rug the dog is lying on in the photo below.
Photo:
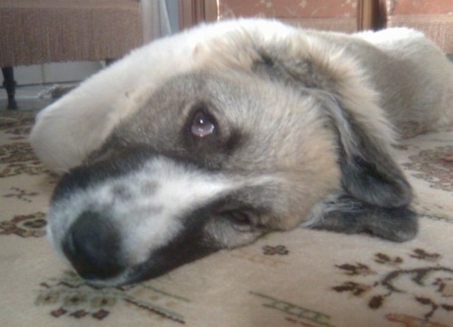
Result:
{"type": "Polygon", "coordinates": [[[0,112],[0,326],[448,327],[453,321],[453,130],[404,142],[416,239],[295,229],[158,279],[85,284],[45,238],[56,178],[34,157],[33,111],[0,112]]]}

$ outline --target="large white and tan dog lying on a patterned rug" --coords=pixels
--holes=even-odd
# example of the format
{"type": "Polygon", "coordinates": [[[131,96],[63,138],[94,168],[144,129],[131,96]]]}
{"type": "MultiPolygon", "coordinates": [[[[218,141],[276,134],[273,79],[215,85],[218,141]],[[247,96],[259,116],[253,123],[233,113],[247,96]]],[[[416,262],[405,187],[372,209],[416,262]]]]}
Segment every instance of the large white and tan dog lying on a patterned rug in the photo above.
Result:
{"type": "Polygon", "coordinates": [[[63,174],[47,234],[92,284],[166,274],[297,226],[416,236],[398,139],[453,120],[453,65],[419,32],[273,20],[157,40],[41,111],[63,174]]]}

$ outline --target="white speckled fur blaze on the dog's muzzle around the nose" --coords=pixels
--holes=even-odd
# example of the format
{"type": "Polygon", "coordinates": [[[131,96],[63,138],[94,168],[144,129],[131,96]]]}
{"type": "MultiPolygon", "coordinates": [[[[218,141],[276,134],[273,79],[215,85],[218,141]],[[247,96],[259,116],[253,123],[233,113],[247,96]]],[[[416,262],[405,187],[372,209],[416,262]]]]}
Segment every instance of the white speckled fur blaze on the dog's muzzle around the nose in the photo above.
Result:
{"type": "MultiPolygon", "coordinates": [[[[53,203],[49,237],[61,255],[63,238],[84,211],[99,212],[120,231],[128,265],[146,261],[152,249],[165,245],[183,226],[178,218],[236,187],[222,175],[207,175],[170,159],[150,159],[139,171],[75,189],[53,203]],[[121,189],[127,196],[119,196],[121,189]]],[[[242,184],[242,183],[240,183],[242,184]]]]}

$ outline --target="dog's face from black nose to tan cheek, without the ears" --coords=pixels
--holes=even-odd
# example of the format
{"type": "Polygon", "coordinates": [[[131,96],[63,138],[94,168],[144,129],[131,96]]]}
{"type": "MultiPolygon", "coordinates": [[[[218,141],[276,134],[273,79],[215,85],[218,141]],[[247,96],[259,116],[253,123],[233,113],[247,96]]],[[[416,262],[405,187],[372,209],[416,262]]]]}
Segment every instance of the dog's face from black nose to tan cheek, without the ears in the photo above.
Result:
{"type": "Polygon", "coordinates": [[[339,188],[322,110],[246,73],[179,76],[62,178],[53,244],[83,277],[118,284],[294,227],[339,188]]]}

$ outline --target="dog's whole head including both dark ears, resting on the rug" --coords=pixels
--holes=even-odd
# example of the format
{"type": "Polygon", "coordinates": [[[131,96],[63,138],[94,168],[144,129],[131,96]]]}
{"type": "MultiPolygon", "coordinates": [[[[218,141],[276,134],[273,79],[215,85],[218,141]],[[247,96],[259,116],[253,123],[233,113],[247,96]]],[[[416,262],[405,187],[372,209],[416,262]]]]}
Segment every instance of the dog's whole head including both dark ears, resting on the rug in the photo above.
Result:
{"type": "Polygon", "coordinates": [[[354,76],[267,50],[170,78],[63,176],[48,231],[82,277],[152,278],[300,224],[414,235],[412,220],[391,233],[389,219],[375,222],[389,210],[410,216],[410,187],[374,95],[348,98],[354,76]]]}

